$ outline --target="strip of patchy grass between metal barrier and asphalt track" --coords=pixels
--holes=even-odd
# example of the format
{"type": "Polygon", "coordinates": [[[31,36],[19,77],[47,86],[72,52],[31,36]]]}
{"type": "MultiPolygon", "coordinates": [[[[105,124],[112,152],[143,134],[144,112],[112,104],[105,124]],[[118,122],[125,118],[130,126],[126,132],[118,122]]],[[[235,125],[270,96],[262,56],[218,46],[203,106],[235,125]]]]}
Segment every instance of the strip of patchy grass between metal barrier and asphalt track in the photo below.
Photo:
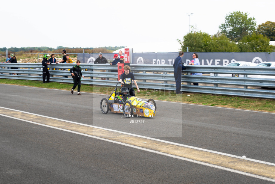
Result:
{"type": "MultiPolygon", "coordinates": [[[[50,88],[71,91],[73,84],[51,82],[43,84],[41,81],[27,81],[15,79],[0,79],[1,84],[31,86],[36,88],[50,88]]],[[[3,90],[3,89],[1,89],[3,90]]],[[[81,85],[82,92],[111,94],[114,87],[104,87],[96,85],[81,85]]],[[[209,105],[227,108],[238,108],[253,111],[264,111],[275,113],[275,100],[273,99],[259,99],[259,98],[245,98],[238,96],[222,96],[210,95],[200,93],[183,93],[182,95],[175,94],[174,91],[158,91],[150,89],[141,89],[136,96],[144,99],[163,100],[170,102],[183,102],[199,105],[209,105]]]]}

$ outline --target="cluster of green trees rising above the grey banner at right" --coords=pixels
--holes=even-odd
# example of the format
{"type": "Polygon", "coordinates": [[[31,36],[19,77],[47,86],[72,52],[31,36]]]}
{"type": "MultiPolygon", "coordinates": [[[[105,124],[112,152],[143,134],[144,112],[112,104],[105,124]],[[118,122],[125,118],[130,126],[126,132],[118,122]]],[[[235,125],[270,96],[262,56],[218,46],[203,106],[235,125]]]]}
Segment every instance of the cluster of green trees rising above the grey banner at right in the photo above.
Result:
{"type": "Polygon", "coordinates": [[[192,29],[178,40],[182,51],[190,52],[275,52],[275,22],[266,21],[256,27],[249,13],[235,11],[225,16],[215,35],[192,29]]]}

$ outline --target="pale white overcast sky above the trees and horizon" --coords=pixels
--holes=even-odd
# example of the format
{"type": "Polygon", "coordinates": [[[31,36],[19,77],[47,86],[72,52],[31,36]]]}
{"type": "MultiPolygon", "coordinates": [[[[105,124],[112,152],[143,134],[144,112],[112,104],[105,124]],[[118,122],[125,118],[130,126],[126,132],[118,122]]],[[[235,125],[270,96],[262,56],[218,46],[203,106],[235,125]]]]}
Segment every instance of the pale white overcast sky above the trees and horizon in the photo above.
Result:
{"type": "Polygon", "coordinates": [[[0,47],[102,47],[177,42],[189,32],[215,34],[233,11],[257,25],[275,22],[274,0],[10,0],[1,2],[0,47]]]}

